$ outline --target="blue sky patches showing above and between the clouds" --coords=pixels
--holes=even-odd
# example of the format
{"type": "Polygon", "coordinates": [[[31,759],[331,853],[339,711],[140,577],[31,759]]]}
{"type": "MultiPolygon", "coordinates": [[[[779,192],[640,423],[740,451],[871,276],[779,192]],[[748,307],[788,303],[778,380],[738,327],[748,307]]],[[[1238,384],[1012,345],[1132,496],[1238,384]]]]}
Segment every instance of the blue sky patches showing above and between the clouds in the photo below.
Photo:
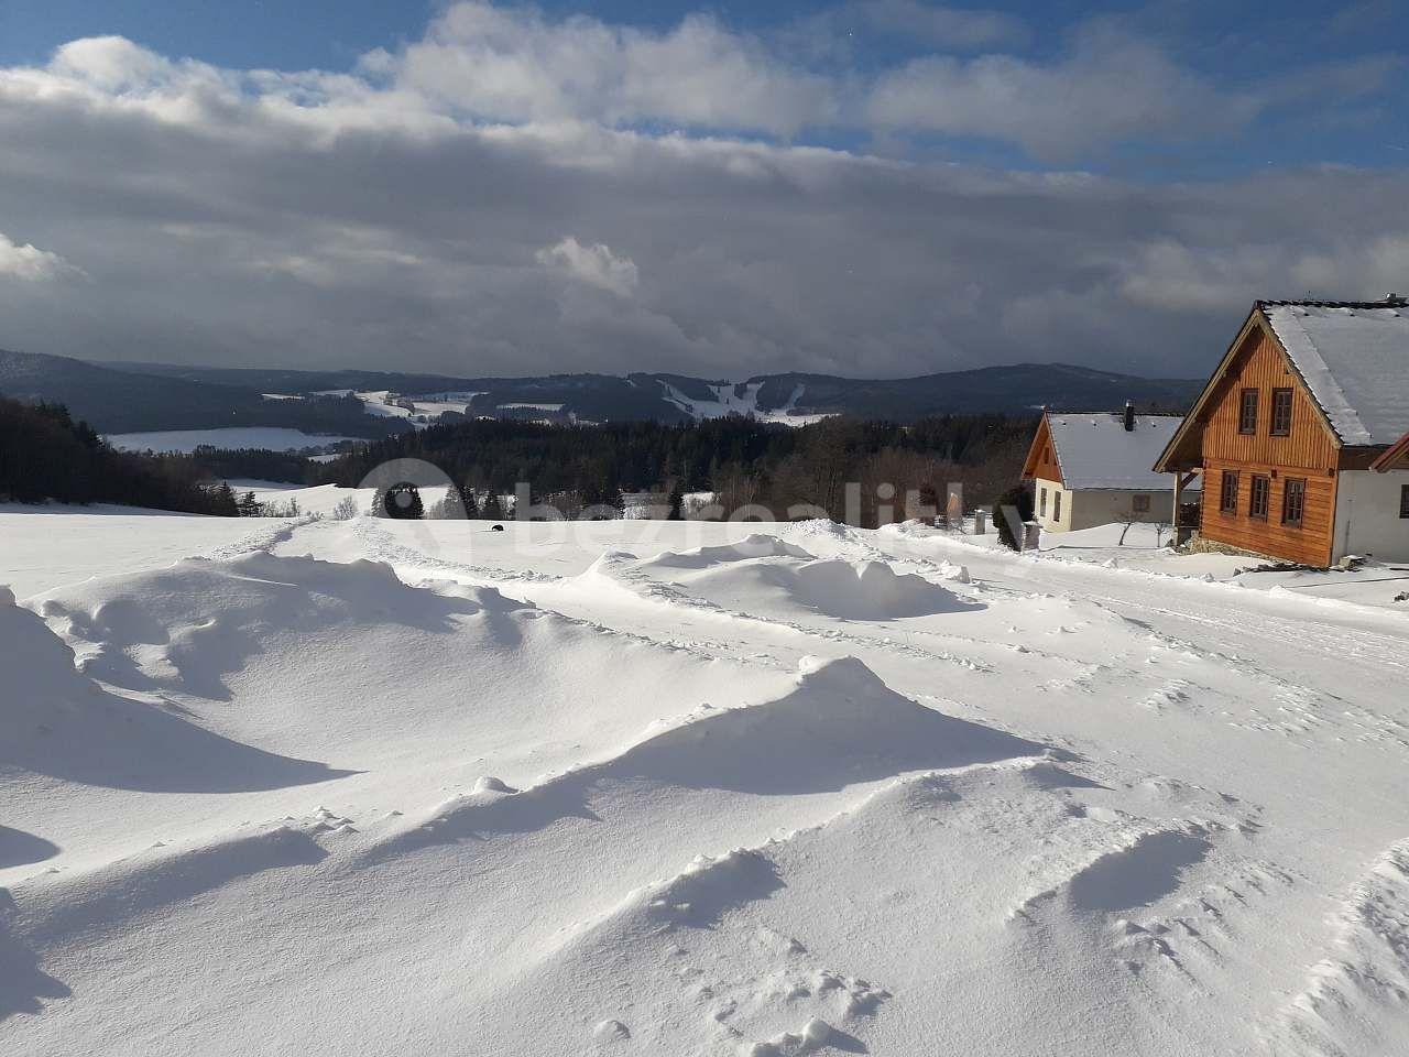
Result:
{"type": "MultiPolygon", "coordinates": [[[[373,48],[396,51],[420,38],[448,4],[427,0],[4,0],[0,4],[0,63],[39,63],[59,45],[89,35],[118,34],[170,58],[217,66],[280,70],[354,69],[373,48]]],[[[610,25],[668,31],[688,16],[707,14],[730,30],[775,47],[785,61],[828,73],[874,73],[934,52],[961,59],[985,54],[1036,63],[1060,62],[1072,35],[1102,20],[1157,47],[1210,85],[1250,89],[1268,82],[1310,82],[1292,101],[1261,116],[1236,137],[1213,134],[1175,144],[1131,137],[1103,144],[1062,166],[1129,179],[1199,179],[1260,166],[1344,163],[1409,165],[1409,52],[1392,32],[1403,11],[1392,0],[1340,6],[1291,0],[1268,17],[1262,4],[1182,0],[1144,6],[1113,3],[995,3],[960,8],[985,11],[1007,30],[978,41],[937,45],[906,30],[848,17],[844,4],[692,4],[681,0],[545,0],[550,18],[586,16],[610,25]],[[790,32],[824,13],[843,11],[821,31],[845,55],[809,56],[789,48],[790,32]],[[1339,69],[1337,69],[1339,68],[1339,69]],[[1317,87],[1317,70],[1332,87],[1317,87]],[[1351,86],[1354,82],[1354,86],[1351,86]]],[[[724,131],[735,131],[726,128],[724,131]]],[[[905,156],[950,158],[1006,168],[1053,168],[1048,159],[1012,142],[982,135],[910,132],[878,141],[868,130],[807,128],[795,141],[905,156]]]]}

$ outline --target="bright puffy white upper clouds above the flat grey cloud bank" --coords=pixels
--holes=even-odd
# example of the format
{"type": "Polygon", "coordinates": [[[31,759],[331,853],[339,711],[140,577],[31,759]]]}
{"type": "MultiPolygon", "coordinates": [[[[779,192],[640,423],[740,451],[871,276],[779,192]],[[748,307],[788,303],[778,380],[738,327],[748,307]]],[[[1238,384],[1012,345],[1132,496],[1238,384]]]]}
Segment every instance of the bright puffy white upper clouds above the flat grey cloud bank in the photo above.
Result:
{"type": "Polygon", "coordinates": [[[1029,30],[995,11],[920,0],[845,0],[761,38],[707,14],[666,30],[552,17],[465,0],[418,41],[362,56],[351,73],[225,70],[173,61],[121,37],[72,41],[44,68],[0,70],[0,94],[83,100],[172,124],[262,135],[251,111],[320,138],[465,123],[748,132],[817,130],[954,135],[1074,159],[1123,142],[1206,141],[1271,111],[1334,106],[1381,90],[1392,56],[1298,68],[1220,86],[1115,20],[1075,27],[1054,59],[1024,56],[1029,30]],[[852,30],[926,54],[857,68],[852,30]],[[1003,51],[1002,47],[1007,47],[1003,51]],[[961,54],[985,48],[985,54],[961,54]]]}

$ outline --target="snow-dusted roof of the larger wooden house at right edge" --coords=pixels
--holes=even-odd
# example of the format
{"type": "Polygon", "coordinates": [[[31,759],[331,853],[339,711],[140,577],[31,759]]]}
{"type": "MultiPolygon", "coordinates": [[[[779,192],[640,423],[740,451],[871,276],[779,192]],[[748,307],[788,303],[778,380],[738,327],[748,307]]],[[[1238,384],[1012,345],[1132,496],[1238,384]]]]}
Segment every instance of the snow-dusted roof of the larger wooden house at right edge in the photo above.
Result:
{"type": "Polygon", "coordinates": [[[1409,309],[1267,302],[1262,311],[1343,443],[1394,444],[1409,431],[1409,309]]]}

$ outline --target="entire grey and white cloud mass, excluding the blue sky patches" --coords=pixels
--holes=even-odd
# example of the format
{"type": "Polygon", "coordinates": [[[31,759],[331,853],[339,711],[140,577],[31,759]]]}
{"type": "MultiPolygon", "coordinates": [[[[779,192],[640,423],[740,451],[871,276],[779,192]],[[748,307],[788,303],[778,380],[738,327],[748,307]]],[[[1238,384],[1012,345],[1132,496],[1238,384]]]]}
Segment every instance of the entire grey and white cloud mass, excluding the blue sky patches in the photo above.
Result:
{"type": "MultiPolygon", "coordinates": [[[[912,116],[885,120],[1045,154],[1274,104],[1120,39],[931,56],[892,70],[919,80],[912,116]]],[[[0,202],[32,242],[0,241],[0,344],[296,366],[395,351],[454,373],[1199,375],[1255,296],[1405,285],[1403,172],[1160,185],[717,131],[879,121],[869,75],[775,47],[710,18],[644,32],[471,4],[349,73],[216,69],[117,38],[0,68],[0,202]],[[20,262],[72,269],[37,247],[82,261],[82,299],[6,282],[20,262]]]]}

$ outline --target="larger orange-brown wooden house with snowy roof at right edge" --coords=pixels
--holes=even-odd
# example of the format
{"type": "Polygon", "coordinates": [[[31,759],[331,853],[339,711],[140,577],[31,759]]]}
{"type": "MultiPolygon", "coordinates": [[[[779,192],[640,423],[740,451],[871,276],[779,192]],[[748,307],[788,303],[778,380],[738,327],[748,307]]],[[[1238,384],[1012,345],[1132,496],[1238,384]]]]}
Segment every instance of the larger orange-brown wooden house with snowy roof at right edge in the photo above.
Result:
{"type": "Polygon", "coordinates": [[[1409,560],[1409,302],[1257,302],[1155,469],[1199,534],[1329,567],[1409,560]]]}

